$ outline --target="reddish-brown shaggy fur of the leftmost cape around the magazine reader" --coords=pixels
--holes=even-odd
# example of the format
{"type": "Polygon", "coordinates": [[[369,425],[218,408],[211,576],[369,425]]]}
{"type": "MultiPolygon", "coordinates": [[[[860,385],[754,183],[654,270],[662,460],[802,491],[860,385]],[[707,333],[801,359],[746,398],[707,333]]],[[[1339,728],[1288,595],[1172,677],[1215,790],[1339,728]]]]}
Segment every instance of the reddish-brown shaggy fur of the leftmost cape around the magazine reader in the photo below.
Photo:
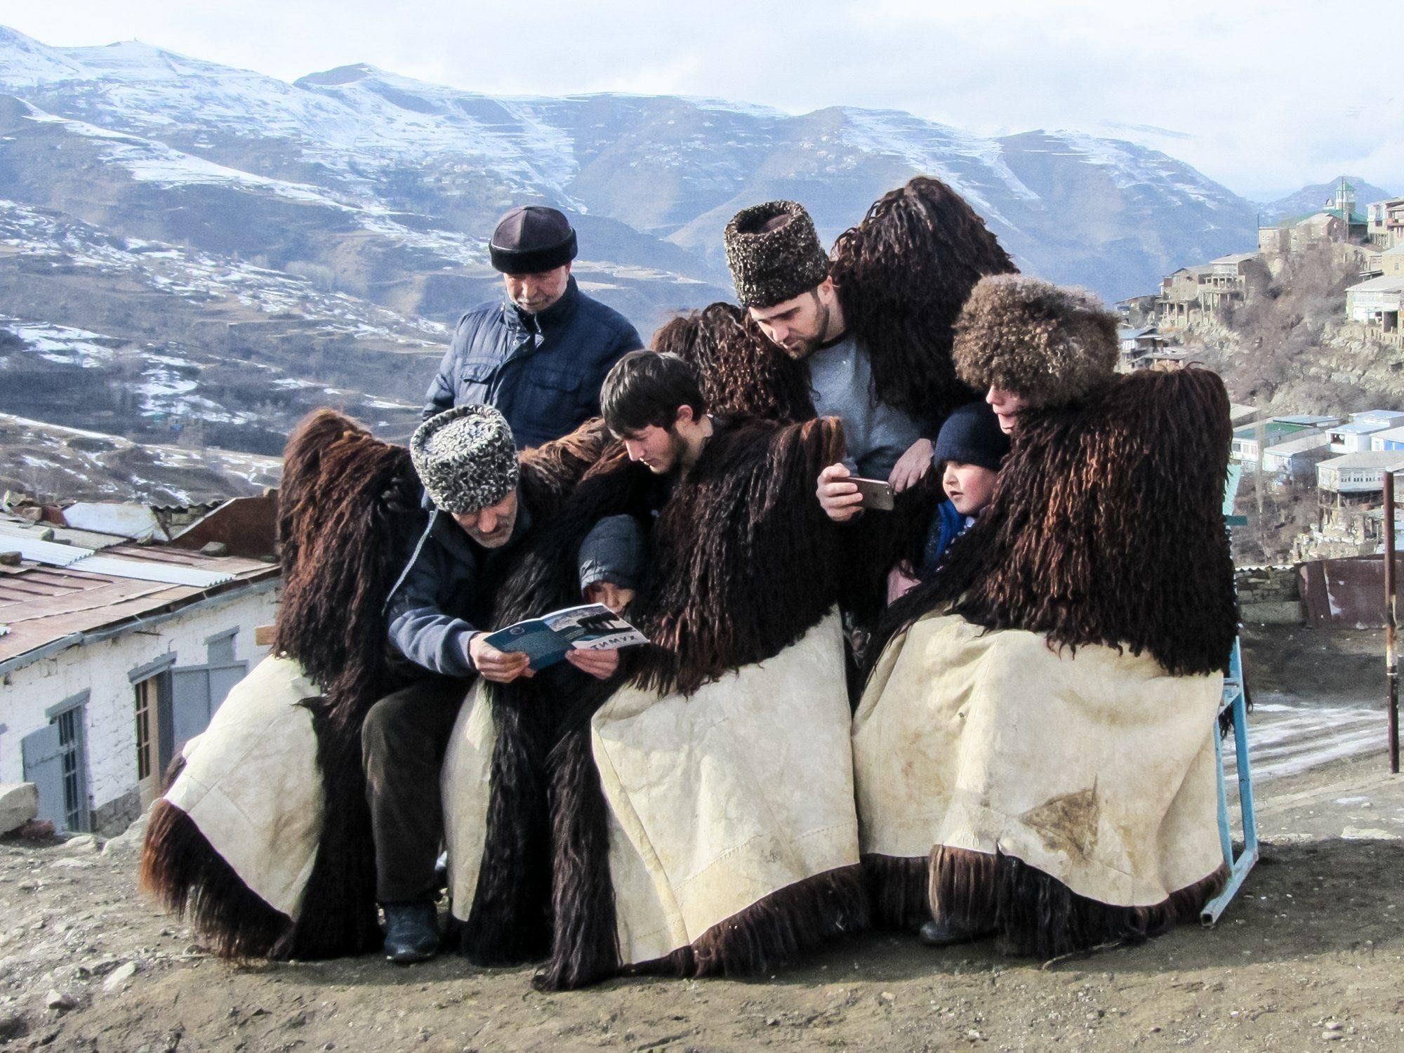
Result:
{"type": "MultiPolygon", "coordinates": [[[[598,458],[598,423],[522,453],[521,496],[539,521],[598,458]]],[[[410,671],[392,657],[385,601],[423,529],[420,484],[403,446],[334,410],[316,410],[284,455],[278,536],[284,592],[274,653],[296,660],[322,696],[309,701],[324,795],[317,856],[296,920],[249,890],[180,809],[153,806],[140,883],[229,958],[330,958],[379,946],[375,855],[361,768],[361,724],[410,671]]],[[[180,761],[167,776],[178,775],[180,761]]]]}

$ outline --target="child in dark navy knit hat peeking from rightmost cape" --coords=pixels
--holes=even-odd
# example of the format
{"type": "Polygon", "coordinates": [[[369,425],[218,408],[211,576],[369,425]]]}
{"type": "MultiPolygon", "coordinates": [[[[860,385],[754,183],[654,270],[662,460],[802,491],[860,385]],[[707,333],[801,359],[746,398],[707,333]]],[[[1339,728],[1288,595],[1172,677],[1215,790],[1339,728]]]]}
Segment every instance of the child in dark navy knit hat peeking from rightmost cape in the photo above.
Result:
{"type": "Polygon", "coordinates": [[[935,573],[951,542],[965,534],[990,503],[1000,462],[1008,452],[1009,437],[1001,431],[1000,418],[987,403],[966,403],[946,417],[932,453],[946,498],[936,507],[915,578],[900,567],[894,570],[887,584],[889,602],[935,573]]]}

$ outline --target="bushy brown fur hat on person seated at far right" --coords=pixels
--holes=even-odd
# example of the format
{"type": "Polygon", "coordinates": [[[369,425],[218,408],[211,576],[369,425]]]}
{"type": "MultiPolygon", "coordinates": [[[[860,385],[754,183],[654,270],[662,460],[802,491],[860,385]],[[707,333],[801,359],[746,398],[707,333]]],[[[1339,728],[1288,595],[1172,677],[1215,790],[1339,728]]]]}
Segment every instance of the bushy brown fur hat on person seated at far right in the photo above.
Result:
{"type": "Polygon", "coordinates": [[[1081,399],[1116,369],[1116,316],[1092,293],[1038,278],[981,278],[956,320],[956,373],[1032,406],[1081,399]]]}

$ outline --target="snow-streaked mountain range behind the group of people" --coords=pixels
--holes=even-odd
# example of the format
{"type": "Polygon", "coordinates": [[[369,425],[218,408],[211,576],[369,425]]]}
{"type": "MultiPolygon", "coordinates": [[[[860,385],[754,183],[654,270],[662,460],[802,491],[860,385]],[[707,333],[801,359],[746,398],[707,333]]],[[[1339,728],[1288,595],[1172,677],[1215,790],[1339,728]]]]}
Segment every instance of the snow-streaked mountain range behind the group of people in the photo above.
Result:
{"type": "Polygon", "coordinates": [[[503,98],[364,65],[289,84],[0,27],[0,413],[146,442],[198,425],[270,453],[331,402],[403,438],[459,312],[500,295],[486,239],[511,205],[567,209],[580,284],[647,336],[730,298],[739,208],[793,198],[833,239],[918,173],[966,195],[1025,271],[1108,299],[1255,237],[1251,204],[1119,140],[503,98]]]}

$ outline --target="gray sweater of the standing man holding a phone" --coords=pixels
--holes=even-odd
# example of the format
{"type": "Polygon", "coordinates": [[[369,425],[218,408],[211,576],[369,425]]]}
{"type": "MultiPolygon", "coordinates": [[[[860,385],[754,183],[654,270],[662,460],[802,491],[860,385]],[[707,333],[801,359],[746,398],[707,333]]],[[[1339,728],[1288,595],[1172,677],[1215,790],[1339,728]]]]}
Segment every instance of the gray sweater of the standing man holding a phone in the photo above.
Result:
{"type": "Polygon", "coordinates": [[[814,411],[844,421],[848,439],[844,463],[865,479],[886,479],[897,458],[922,437],[921,425],[873,397],[873,366],[852,334],[820,348],[806,361],[814,411]]]}

